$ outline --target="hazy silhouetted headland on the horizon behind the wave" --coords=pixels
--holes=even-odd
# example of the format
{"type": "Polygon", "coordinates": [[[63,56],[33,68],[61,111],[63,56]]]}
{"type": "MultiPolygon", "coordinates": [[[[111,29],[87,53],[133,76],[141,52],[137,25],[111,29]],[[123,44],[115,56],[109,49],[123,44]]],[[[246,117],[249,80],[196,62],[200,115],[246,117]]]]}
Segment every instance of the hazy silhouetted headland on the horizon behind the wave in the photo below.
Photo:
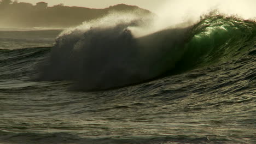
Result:
{"type": "Polygon", "coordinates": [[[47,3],[43,2],[32,5],[2,0],[0,3],[0,27],[66,28],[103,17],[111,11],[132,12],[142,16],[152,14],[146,9],[125,4],[118,4],[105,9],[90,9],[66,7],[63,4],[47,7],[47,3]]]}

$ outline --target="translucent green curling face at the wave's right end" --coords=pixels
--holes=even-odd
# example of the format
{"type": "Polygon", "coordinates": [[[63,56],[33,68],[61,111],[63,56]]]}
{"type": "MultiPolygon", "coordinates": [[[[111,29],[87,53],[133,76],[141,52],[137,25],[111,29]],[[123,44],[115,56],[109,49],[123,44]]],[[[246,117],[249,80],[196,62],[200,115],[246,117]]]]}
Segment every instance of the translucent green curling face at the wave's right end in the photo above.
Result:
{"type": "Polygon", "coordinates": [[[256,23],[236,17],[207,16],[191,29],[179,69],[230,61],[253,48],[256,23]]]}

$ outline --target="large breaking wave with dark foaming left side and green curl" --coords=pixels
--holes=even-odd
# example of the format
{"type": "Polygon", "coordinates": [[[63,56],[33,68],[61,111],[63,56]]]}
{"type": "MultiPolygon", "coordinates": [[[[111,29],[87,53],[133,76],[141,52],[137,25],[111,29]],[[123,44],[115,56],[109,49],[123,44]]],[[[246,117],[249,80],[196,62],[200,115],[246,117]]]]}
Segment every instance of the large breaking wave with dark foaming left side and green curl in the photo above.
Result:
{"type": "Polygon", "coordinates": [[[101,20],[62,33],[40,64],[39,80],[70,80],[86,91],[121,87],[230,61],[255,41],[256,23],[234,16],[207,15],[195,25],[135,37],[131,29],[147,22],[101,20]]]}

